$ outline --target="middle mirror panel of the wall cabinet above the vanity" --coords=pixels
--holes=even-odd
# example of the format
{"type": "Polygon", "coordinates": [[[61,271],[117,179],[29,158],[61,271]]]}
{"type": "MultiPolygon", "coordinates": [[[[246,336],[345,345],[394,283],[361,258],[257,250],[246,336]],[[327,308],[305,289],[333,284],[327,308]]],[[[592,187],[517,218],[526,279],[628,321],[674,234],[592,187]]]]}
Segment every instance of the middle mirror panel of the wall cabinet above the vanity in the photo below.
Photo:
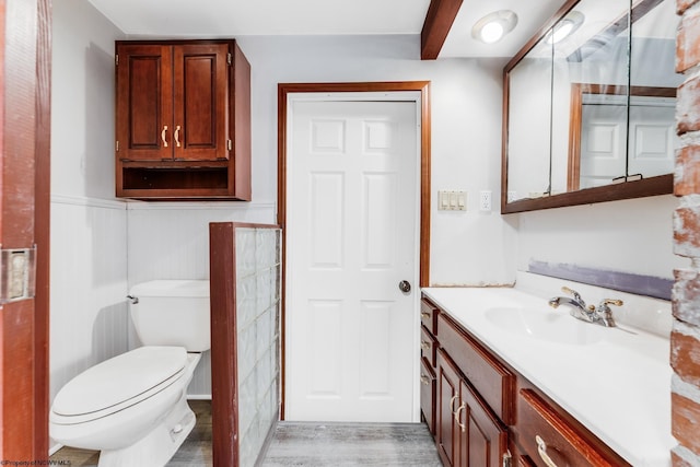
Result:
{"type": "MultiPolygon", "coordinates": [[[[627,84],[629,0],[581,0],[573,12],[584,21],[570,36],[555,44],[555,86],[552,108],[552,194],[612,183],[625,176],[627,159],[627,84]],[[615,21],[611,21],[614,19],[615,21]],[[583,113],[596,126],[575,121],[572,112],[583,103],[572,98],[572,83],[591,83],[603,92],[617,95],[619,105],[586,105],[583,113]],[[600,109],[605,107],[605,112],[600,109]],[[587,112],[593,110],[593,112],[587,112]],[[599,112],[600,110],[600,112],[599,112]],[[600,115],[603,113],[604,115],[600,115]],[[580,125],[580,128],[576,126],[580,125]],[[581,138],[580,159],[571,157],[571,147],[581,138]],[[575,174],[593,185],[571,183],[575,174]]],[[[587,94],[590,95],[590,94],[587,94]]],[[[574,96],[578,97],[578,96],[574,96]]]]}

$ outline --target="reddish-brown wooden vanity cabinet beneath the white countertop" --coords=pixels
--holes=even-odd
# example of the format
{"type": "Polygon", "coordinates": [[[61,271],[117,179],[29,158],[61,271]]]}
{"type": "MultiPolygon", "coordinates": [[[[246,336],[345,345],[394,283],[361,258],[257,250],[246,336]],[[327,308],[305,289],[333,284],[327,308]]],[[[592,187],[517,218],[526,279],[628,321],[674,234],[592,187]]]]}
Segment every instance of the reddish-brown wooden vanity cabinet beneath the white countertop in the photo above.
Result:
{"type": "MultiPolygon", "coordinates": [[[[427,308],[436,317],[434,436],[445,466],[629,466],[448,311],[423,297],[427,308]]],[[[421,408],[425,416],[422,397],[421,408]]]]}

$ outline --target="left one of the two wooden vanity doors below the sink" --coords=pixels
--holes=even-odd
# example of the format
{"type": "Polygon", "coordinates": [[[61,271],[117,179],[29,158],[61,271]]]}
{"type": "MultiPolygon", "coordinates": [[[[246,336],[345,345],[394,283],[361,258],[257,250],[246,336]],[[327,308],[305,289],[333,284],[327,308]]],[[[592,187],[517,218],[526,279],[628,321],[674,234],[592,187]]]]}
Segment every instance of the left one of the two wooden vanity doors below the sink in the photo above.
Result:
{"type": "Polygon", "coordinates": [[[457,466],[459,459],[459,427],[455,410],[459,404],[459,376],[442,349],[438,349],[436,444],[445,466],[457,466]]]}

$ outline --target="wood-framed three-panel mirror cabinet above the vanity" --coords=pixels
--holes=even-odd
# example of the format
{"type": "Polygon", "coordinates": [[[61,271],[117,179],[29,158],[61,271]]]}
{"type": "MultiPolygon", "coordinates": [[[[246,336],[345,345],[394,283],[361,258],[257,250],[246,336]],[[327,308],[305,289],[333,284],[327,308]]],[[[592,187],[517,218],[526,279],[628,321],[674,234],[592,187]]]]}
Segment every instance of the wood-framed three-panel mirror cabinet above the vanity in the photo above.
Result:
{"type": "Polygon", "coordinates": [[[504,69],[501,212],[673,190],[674,0],[580,0],[504,69]]]}

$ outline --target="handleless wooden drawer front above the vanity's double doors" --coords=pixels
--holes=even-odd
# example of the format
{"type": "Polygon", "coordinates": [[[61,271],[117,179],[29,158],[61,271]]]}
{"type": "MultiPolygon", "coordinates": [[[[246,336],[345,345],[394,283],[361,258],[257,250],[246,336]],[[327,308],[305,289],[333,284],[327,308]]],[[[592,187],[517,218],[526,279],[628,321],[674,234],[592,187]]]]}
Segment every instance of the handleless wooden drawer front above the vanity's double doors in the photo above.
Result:
{"type": "Polygon", "coordinates": [[[440,346],[445,349],[483,400],[508,425],[513,424],[515,376],[450,316],[438,317],[440,346]]]}

